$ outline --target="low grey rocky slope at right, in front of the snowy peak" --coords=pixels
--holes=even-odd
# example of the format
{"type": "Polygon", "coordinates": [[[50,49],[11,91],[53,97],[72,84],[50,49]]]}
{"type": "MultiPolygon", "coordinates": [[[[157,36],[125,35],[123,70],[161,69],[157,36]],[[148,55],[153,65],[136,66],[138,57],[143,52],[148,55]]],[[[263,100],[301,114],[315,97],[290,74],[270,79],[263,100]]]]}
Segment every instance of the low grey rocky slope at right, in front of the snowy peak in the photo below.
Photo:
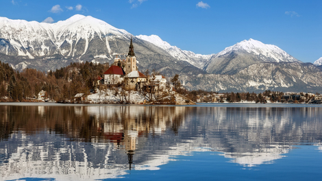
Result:
{"type": "Polygon", "coordinates": [[[322,71],[311,63],[264,62],[251,64],[234,75],[199,74],[184,79],[188,88],[219,92],[276,90],[321,93],[321,77],[322,71]]]}

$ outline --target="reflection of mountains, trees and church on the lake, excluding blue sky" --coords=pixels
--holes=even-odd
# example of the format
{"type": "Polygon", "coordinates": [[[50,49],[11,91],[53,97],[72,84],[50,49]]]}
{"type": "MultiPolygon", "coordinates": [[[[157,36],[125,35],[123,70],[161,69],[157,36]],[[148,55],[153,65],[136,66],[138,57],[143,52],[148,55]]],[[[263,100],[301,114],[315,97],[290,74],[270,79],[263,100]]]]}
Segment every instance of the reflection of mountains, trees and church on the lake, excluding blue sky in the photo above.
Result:
{"type": "Polygon", "coordinates": [[[116,178],[209,151],[253,167],[287,156],[293,145],[321,150],[321,110],[0,106],[0,176],[116,178]]]}

